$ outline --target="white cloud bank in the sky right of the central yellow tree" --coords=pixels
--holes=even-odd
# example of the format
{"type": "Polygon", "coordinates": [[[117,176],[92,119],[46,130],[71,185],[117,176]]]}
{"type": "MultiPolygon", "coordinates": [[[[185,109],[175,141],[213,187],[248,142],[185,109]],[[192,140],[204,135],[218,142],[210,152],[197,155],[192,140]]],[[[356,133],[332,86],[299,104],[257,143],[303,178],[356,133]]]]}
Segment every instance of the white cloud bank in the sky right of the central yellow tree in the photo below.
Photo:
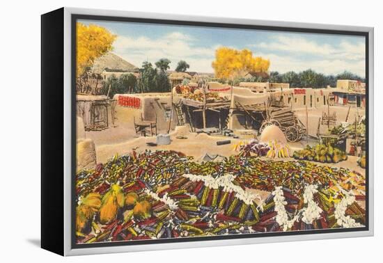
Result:
{"type": "Polygon", "coordinates": [[[343,40],[338,45],[320,45],[302,37],[277,35],[272,42],[261,42],[251,47],[265,51],[257,54],[270,59],[270,70],[299,72],[311,68],[323,74],[347,70],[365,76],[366,50],[363,42],[353,44],[343,40]]]}

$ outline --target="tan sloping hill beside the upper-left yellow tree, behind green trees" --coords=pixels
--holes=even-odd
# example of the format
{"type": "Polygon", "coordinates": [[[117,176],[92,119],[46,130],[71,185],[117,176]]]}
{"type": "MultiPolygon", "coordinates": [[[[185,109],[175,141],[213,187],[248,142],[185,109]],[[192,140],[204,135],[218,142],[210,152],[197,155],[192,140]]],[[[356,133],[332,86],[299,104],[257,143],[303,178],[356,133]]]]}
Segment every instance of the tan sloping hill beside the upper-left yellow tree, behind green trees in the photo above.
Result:
{"type": "Polygon", "coordinates": [[[120,56],[116,54],[108,53],[97,58],[92,67],[92,71],[98,74],[104,70],[109,72],[136,72],[138,67],[125,61],[125,59],[120,58],[120,56]]]}

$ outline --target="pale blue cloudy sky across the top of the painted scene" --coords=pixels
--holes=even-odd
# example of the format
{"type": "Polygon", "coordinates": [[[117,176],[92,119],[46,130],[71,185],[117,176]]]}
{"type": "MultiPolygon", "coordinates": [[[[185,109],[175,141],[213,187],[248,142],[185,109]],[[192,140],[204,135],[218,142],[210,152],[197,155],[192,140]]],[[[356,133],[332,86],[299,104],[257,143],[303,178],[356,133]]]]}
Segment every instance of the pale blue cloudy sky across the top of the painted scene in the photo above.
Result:
{"type": "Polygon", "coordinates": [[[140,67],[169,58],[171,70],[178,61],[189,63],[190,71],[214,72],[212,61],[217,47],[250,49],[254,56],[270,60],[269,70],[300,72],[311,68],[324,74],[345,70],[365,77],[364,37],[314,33],[287,33],[249,29],[222,29],[132,22],[79,20],[104,26],[118,35],[114,53],[140,67]]]}

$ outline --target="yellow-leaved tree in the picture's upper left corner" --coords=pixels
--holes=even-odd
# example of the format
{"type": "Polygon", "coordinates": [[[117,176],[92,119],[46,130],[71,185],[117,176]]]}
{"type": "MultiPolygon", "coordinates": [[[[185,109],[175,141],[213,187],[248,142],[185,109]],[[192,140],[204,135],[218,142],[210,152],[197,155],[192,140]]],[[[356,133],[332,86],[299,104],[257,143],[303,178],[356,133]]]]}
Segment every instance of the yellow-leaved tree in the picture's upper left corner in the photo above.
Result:
{"type": "Polygon", "coordinates": [[[83,74],[86,67],[91,67],[96,58],[111,51],[115,39],[116,35],[102,26],[95,24],[86,26],[77,22],[76,76],[83,74]]]}

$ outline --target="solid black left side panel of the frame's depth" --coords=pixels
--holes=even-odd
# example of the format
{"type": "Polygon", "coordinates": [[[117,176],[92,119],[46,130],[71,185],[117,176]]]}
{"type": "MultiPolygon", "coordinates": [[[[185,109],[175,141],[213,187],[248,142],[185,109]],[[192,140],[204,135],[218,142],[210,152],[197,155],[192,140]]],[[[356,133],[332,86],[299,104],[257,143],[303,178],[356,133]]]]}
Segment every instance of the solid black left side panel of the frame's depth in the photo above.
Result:
{"type": "Polygon", "coordinates": [[[41,248],[64,255],[64,8],[40,19],[41,248]]]}

